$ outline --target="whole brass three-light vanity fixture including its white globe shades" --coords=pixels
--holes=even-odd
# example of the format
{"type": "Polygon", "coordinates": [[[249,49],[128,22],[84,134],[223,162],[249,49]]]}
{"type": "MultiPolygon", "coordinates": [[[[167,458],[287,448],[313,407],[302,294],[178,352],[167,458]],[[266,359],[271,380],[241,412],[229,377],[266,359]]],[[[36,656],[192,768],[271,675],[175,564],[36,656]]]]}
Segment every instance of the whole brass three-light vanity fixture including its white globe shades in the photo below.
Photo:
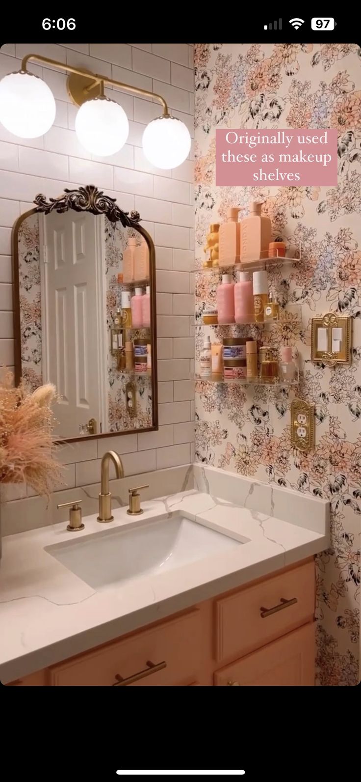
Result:
{"type": "Polygon", "coordinates": [[[75,130],[80,144],[88,152],[101,157],[113,155],[127,141],[127,114],[119,103],[104,94],[104,85],[109,84],[161,103],[162,115],[149,122],[142,138],[143,151],[150,163],[158,168],[170,169],[180,166],[188,157],[191,149],[188,127],[177,117],[171,117],[162,95],[38,54],[27,54],[23,57],[21,70],[7,74],[0,81],[0,122],[10,133],[20,138],[38,138],[52,127],[55,120],[52,91],[45,81],[27,70],[30,60],[55,66],[70,74],[67,89],[70,98],[80,107],[75,130]]]}

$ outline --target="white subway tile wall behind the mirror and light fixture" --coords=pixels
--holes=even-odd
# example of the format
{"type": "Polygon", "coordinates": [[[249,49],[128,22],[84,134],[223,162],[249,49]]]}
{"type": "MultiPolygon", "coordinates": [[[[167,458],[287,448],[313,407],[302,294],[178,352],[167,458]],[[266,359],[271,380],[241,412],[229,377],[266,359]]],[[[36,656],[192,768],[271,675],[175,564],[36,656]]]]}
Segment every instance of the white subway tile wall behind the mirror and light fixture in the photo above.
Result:
{"type": "MultiPolygon", "coordinates": [[[[159,92],[174,116],[194,136],[193,46],[191,44],[5,44],[0,49],[0,77],[20,70],[28,52],[51,56],[159,92]]],[[[59,457],[66,465],[66,486],[98,482],[105,450],[122,454],[126,475],[187,464],[194,440],[194,356],[192,333],[194,269],[193,152],[179,168],[152,167],[141,149],[145,124],[160,106],[126,92],[107,89],[130,120],[127,145],[111,158],[92,158],[77,141],[76,107],[66,91],[66,74],[33,66],[56,102],[55,124],[45,136],[20,139],[0,124],[0,366],[13,368],[13,299],[10,235],[20,213],[31,208],[38,192],[56,196],[65,187],[94,183],[125,210],[141,213],[155,242],[159,351],[159,431],[66,444],[59,457]]],[[[62,489],[64,500],[66,488],[62,489]]],[[[25,486],[3,493],[5,526],[21,512],[28,527],[48,523],[45,503],[25,486]],[[44,518],[42,518],[44,516],[44,518]]],[[[60,491],[59,495],[60,496],[60,491]]]]}

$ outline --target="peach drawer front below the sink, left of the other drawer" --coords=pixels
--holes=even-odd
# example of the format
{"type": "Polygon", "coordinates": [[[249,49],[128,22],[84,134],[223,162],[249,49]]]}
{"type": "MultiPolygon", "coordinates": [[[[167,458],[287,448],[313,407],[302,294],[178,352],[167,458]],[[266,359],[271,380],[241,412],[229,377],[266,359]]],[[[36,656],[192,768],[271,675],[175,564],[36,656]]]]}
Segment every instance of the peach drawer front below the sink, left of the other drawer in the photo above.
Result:
{"type": "Polygon", "coordinates": [[[130,686],[190,684],[198,678],[201,630],[199,612],[195,609],[170,622],[54,665],[49,669],[49,684],[53,687],[106,687],[116,684],[116,676],[123,680],[131,677],[130,686]],[[149,661],[155,666],[166,662],[166,667],[152,671],[149,661]],[[136,679],[135,675],[141,672],[146,675],[136,679]]]}

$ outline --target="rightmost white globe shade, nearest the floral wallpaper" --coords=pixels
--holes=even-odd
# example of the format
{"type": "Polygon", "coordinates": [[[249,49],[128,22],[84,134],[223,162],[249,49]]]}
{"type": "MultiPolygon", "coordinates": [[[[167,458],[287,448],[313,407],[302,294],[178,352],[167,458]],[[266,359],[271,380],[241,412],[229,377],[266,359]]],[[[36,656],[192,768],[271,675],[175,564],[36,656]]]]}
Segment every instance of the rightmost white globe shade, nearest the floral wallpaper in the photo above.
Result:
{"type": "Polygon", "coordinates": [[[145,157],[157,168],[177,168],[188,157],[191,135],[176,117],[157,117],[143,133],[145,157]]]}

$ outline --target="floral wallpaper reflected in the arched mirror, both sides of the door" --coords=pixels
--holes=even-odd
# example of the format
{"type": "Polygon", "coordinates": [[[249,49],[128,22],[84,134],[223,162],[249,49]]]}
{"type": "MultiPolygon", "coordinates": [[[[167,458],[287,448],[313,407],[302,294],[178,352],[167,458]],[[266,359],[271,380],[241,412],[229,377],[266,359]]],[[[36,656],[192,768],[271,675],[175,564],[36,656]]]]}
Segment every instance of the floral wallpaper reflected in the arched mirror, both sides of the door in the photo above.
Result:
{"type": "MultiPolygon", "coordinates": [[[[130,418],[125,405],[125,386],[129,375],[116,368],[110,352],[110,328],[113,314],[120,307],[122,286],[117,274],[123,268],[123,249],[127,230],[103,219],[105,224],[106,311],[109,333],[107,353],[109,432],[144,429],[152,425],[152,382],[144,375],[134,375],[137,387],[137,414],[130,418]]],[[[20,224],[18,234],[21,364],[24,382],[34,391],[42,383],[41,370],[41,280],[38,214],[30,215],[20,224]]],[[[132,332],[132,339],[148,332],[132,332]]]]}

